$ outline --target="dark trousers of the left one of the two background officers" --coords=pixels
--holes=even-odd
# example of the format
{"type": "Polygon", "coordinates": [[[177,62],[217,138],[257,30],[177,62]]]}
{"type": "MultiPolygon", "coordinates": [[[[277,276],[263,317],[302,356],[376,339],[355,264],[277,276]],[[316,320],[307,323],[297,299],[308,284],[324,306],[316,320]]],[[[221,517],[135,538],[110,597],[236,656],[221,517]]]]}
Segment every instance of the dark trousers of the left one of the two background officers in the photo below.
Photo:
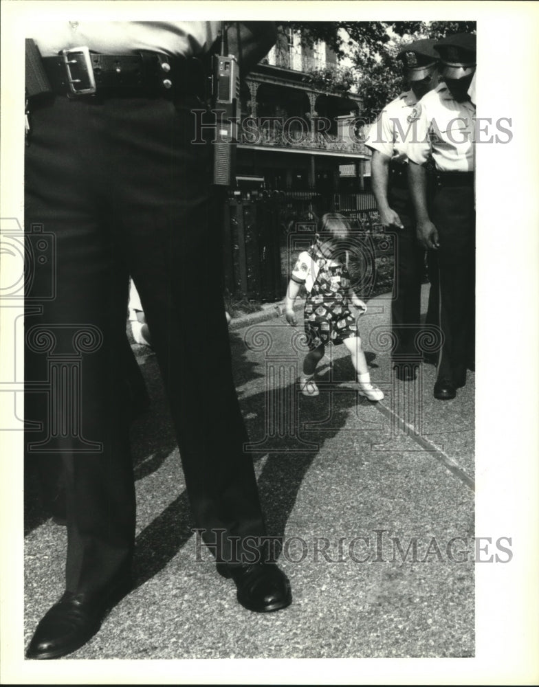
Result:
{"type": "MultiPolygon", "coordinates": [[[[417,240],[415,213],[413,210],[406,165],[391,166],[388,192],[389,206],[399,215],[403,229],[395,232],[395,278],[391,302],[392,331],[395,335],[395,360],[417,358],[421,350],[417,346],[417,334],[421,328],[421,283],[425,272],[425,249],[417,240]]],[[[428,262],[428,278],[431,290],[428,300],[426,324],[437,326],[437,297],[432,283],[437,271],[428,262]]],[[[434,287],[435,288],[435,287],[434,287]]]]}

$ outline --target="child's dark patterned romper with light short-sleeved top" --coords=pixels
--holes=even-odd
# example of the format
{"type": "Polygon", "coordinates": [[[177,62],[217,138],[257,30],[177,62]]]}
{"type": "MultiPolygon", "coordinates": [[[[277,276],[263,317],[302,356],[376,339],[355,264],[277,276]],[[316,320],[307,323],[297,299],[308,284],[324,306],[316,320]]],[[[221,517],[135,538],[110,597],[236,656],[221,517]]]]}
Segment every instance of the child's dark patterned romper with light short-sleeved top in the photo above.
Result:
{"type": "Polygon", "coordinates": [[[305,333],[309,350],[358,336],[348,307],[350,275],[344,265],[331,262],[313,247],[300,253],[292,271],[292,280],[307,288],[305,333]]]}

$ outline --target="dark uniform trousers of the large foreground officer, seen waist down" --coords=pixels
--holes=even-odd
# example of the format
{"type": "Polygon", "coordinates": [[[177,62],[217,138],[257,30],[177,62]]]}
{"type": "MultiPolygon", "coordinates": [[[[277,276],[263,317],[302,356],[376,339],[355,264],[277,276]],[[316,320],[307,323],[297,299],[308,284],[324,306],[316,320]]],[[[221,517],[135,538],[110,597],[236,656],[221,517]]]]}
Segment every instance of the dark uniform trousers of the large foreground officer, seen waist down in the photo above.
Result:
{"type": "Polygon", "coordinates": [[[25,375],[29,389],[47,381],[56,392],[28,392],[26,416],[43,431],[27,431],[25,440],[29,453],[63,460],[70,591],[110,585],[133,554],[122,374],[129,273],[170,401],[195,524],[225,530],[207,537],[222,561],[233,560],[229,537],[264,534],[230,365],[211,151],[190,144],[192,106],[57,96],[32,112],[25,225],[52,234],[56,264],[51,271],[50,260],[36,260],[29,270],[25,375]]]}

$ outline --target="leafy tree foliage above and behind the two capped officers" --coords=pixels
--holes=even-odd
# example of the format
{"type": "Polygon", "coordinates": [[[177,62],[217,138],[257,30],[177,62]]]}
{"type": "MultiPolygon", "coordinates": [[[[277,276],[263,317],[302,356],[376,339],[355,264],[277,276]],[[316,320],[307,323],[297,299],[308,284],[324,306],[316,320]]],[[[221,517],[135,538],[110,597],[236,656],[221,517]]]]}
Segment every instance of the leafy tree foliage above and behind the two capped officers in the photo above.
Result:
{"type": "Polygon", "coordinates": [[[374,120],[389,101],[406,90],[396,60],[401,45],[418,38],[439,40],[476,31],[474,21],[294,21],[281,22],[281,26],[300,31],[305,45],[325,41],[339,59],[351,60],[366,120],[374,120]]]}

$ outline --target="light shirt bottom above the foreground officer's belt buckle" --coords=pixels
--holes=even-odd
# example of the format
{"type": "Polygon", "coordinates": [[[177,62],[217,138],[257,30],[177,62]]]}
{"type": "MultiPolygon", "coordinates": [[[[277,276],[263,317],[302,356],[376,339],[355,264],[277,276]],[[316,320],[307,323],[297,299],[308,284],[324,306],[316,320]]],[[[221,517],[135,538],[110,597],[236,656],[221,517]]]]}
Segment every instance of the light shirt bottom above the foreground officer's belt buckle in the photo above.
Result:
{"type": "Polygon", "coordinates": [[[192,57],[207,52],[220,29],[220,21],[29,21],[26,35],[43,57],[83,45],[109,55],[152,50],[192,57]]]}

